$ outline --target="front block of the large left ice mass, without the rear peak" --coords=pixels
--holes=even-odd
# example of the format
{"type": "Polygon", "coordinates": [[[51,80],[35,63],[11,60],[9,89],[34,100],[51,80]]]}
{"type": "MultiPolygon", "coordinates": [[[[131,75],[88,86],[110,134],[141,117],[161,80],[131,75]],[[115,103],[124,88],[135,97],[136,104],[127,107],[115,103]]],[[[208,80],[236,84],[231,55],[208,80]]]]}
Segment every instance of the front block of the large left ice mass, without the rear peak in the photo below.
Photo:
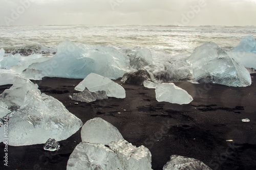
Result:
{"type": "Polygon", "coordinates": [[[49,138],[65,140],[82,126],[61,102],[33,90],[8,117],[8,144],[14,146],[45,143],[49,138]]]}

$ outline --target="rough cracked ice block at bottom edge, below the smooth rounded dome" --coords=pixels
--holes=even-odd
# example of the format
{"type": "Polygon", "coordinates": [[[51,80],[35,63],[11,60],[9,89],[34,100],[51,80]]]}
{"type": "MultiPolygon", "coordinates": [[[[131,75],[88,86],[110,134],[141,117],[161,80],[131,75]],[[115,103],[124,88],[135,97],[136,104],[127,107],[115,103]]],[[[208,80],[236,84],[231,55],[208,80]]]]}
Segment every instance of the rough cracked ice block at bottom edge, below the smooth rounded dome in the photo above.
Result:
{"type": "Polygon", "coordinates": [[[80,142],[70,155],[67,170],[148,170],[151,169],[151,153],[143,145],[136,148],[125,140],[109,145],[80,142]]]}

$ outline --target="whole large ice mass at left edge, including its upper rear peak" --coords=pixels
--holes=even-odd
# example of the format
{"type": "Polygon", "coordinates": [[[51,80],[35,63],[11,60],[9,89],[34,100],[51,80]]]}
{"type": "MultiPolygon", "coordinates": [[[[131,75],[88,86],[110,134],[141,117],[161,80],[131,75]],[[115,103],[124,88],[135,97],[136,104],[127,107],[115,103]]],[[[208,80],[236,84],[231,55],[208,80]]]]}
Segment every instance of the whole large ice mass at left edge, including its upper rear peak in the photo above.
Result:
{"type": "Polygon", "coordinates": [[[16,78],[13,86],[0,95],[0,104],[8,114],[9,145],[45,143],[49,138],[65,140],[82,126],[61,102],[41,93],[25,78],[16,78]]]}

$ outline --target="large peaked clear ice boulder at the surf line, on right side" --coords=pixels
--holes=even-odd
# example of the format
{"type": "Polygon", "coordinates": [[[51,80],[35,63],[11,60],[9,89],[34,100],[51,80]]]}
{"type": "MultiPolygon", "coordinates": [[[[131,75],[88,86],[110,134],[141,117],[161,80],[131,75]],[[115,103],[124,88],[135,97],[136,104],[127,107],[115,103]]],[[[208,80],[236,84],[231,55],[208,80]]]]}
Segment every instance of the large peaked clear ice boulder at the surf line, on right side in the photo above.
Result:
{"type": "Polygon", "coordinates": [[[187,62],[199,83],[216,83],[233,87],[251,85],[248,70],[214,42],[206,42],[195,48],[187,62]]]}

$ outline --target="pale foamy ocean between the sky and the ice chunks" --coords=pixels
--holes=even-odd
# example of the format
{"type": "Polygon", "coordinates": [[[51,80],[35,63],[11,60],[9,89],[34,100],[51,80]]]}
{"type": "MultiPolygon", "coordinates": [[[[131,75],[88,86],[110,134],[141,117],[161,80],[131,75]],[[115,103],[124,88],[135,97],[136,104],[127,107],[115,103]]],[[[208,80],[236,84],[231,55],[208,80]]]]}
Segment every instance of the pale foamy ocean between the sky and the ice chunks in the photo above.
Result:
{"type": "MultiPolygon", "coordinates": [[[[213,41],[225,51],[251,35],[256,37],[256,27],[227,26],[12,26],[0,27],[0,48],[5,56],[19,53],[21,56],[42,54],[52,57],[60,42],[104,45],[118,48],[145,47],[151,51],[155,69],[166,67],[168,62],[176,70],[189,70],[185,62],[195,47],[213,41]]],[[[173,73],[175,74],[175,73],[173,73]]],[[[175,77],[175,76],[174,76],[175,77]]]]}

